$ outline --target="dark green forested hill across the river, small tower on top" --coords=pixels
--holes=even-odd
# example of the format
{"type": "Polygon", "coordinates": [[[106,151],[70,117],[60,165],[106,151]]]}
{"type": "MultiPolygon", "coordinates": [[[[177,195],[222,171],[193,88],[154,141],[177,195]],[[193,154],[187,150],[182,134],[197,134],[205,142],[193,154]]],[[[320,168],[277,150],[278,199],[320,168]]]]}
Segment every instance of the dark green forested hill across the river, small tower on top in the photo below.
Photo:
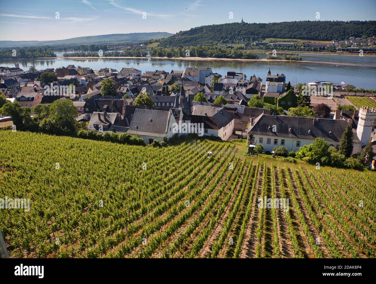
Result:
{"type": "Polygon", "coordinates": [[[169,38],[162,38],[160,46],[190,44],[218,44],[235,40],[250,41],[265,38],[287,38],[329,41],[343,40],[350,36],[376,35],[376,21],[294,21],[282,23],[229,23],[195,27],[180,31],[169,38]]]}

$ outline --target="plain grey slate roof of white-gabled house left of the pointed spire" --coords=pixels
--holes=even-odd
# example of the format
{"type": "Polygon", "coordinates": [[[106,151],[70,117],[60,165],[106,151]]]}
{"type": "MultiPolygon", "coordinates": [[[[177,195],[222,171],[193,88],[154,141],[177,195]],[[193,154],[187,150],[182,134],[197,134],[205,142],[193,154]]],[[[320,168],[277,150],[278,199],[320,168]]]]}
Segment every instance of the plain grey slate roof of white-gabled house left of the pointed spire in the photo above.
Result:
{"type": "Polygon", "coordinates": [[[134,135],[146,135],[164,137],[170,111],[155,109],[135,109],[128,133],[134,135]]]}

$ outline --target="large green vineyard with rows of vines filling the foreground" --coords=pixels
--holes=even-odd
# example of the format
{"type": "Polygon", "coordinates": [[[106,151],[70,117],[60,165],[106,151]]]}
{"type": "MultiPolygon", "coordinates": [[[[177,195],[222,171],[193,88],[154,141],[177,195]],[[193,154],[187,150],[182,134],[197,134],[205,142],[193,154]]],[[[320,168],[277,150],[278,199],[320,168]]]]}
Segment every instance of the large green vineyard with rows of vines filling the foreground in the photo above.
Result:
{"type": "Polygon", "coordinates": [[[3,131],[0,198],[30,210],[0,229],[15,258],[375,257],[376,174],[280,161],[3,131]]]}

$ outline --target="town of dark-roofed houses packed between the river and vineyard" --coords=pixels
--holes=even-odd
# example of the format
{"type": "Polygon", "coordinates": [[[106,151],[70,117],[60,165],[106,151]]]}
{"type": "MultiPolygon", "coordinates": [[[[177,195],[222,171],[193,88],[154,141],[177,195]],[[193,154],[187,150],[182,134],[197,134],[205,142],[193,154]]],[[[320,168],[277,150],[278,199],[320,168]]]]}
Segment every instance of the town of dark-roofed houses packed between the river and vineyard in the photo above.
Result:
{"type": "MultiPolygon", "coordinates": [[[[69,99],[77,108],[76,120],[86,122],[88,130],[133,134],[143,138],[146,144],[173,137],[174,124],[184,123],[202,125],[203,135],[221,140],[249,138],[249,147],[262,144],[268,152],[276,146],[296,152],[315,138],[323,138],[338,148],[347,125],[351,125],[354,133],[353,154],[361,152],[370,138],[376,141],[375,108],[332,109],[334,113],[327,118],[313,118],[276,115],[270,108],[249,107],[248,102],[254,96],[286,111],[296,106],[297,91],[291,86],[288,91],[290,84],[286,84],[285,74],[273,74],[270,68],[265,70],[266,82],[256,74],[250,77],[236,71],[218,74],[210,67],[187,67],[170,72],[154,70],[142,74],[133,67],[92,70],[68,65],[24,73],[15,64],[15,67],[0,67],[0,73],[0,92],[11,102],[32,108],[69,99]],[[42,84],[40,78],[44,72],[55,74],[57,80],[42,84]],[[102,94],[102,83],[107,79],[111,79],[116,90],[113,96],[102,94]],[[74,86],[74,93],[69,96],[46,93],[46,87],[52,92],[53,87],[70,85],[74,86]],[[135,105],[136,98],[144,94],[150,95],[152,104],[135,105]],[[205,102],[195,100],[197,94],[205,97],[205,102]],[[220,96],[226,104],[218,103],[220,96]]],[[[318,84],[320,82],[312,83],[318,84]]],[[[338,91],[349,87],[355,86],[334,85],[338,91]]],[[[7,119],[11,118],[0,117],[0,122],[7,119]]]]}

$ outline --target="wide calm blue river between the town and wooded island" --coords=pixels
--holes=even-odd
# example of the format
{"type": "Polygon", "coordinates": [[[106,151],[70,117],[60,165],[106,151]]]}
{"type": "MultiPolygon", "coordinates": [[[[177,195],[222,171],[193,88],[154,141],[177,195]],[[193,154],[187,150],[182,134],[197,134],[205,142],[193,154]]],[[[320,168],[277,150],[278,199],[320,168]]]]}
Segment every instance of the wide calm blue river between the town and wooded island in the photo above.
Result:
{"type": "MultiPolygon", "coordinates": [[[[266,53],[258,52],[260,57],[266,58],[266,53]]],[[[62,52],[56,52],[57,56],[62,56],[62,52]]],[[[222,76],[227,71],[242,72],[247,78],[255,74],[263,82],[270,67],[272,74],[283,73],[286,81],[291,83],[307,83],[313,80],[330,80],[335,83],[345,82],[357,88],[376,90],[376,56],[350,56],[350,55],[315,55],[302,54],[303,60],[317,61],[316,63],[305,62],[285,62],[285,61],[221,61],[221,60],[181,60],[181,59],[156,59],[156,58],[96,58],[96,59],[35,59],[38,70],[45,68],[66,67],[73,64],[76,67],[90,67],[93,70],[100,68],[114,68],[121,70],[123,67],[134,67],[143,73],[153,70],[184,70],[186,67],[211,67],[213,72],[222,76]],[[325,64],[324,62],[338,62],[335,64],[325,64]],[[341,65],[353,64],[353,65],[341,65]]],[[[0,59],[0,66],[14,67],[14,63],[19,62],[20,68],[27,70],[32,59],[0,59]]]]}

